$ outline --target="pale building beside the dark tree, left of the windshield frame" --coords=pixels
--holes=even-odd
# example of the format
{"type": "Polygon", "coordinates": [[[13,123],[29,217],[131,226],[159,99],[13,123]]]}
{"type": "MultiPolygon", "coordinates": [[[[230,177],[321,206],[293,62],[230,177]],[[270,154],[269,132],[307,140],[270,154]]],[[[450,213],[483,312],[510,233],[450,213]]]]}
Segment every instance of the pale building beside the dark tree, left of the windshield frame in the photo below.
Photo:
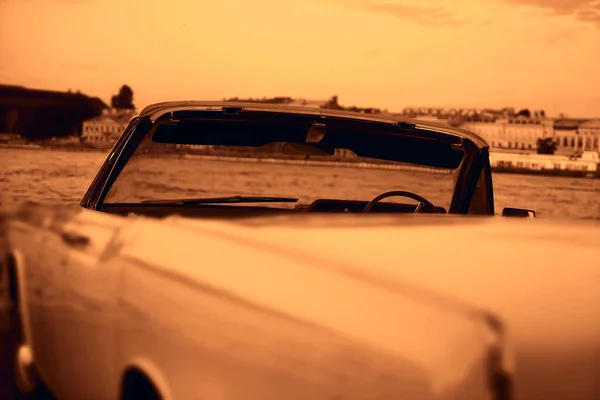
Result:
{"type": "Polygon", "coordinates": [[[81,140],[100,147],[111,147],[134,115],[133,110],[104,110],[102,115],[83,123],[81,140]]]}

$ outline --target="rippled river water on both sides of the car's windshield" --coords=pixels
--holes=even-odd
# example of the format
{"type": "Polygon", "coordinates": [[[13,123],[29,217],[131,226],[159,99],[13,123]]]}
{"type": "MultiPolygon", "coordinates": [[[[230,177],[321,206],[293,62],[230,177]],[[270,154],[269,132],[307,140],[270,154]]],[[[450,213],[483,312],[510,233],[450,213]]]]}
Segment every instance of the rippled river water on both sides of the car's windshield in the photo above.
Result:
{"type": "MultiPolygon", "coordinates": [[[[10,210],[23,202],[77,204],[106,154],[0,149],[0,209],[10,210]]],[[[252,168],[247,165],[246,176],[252,174],[252,168]]],[[[231,168],[229,184],[240,179],[235,170],[231,168]]],[[[370,174],[375,177],[377,173],[362,170],[357,174],[354,168],[336,170],[339,181],[352,181],[352,176],[360,175],[361,181],[370,182],[370,174]]],[[[221,168],[220,174],[227,174],[227,168],[221,168]]],[[[600,220],[600,179],[495,174],[493,182],[497,213],[503,207],[520,207],[536,210],[543,218],[600,220]]],[[[374,192],[403,189],[384,183],[374,192]]]]}

